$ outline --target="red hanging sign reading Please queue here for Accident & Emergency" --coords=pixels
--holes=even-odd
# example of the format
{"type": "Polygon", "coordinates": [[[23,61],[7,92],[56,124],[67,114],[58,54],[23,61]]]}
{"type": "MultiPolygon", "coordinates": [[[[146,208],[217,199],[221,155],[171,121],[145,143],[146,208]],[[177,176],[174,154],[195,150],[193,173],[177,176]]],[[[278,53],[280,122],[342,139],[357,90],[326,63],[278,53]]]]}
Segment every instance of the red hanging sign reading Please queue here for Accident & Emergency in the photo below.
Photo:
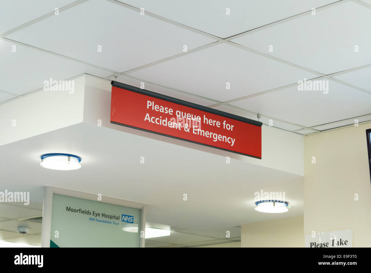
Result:
{"type": "Polygon", "coordinates": [[[262,123],[112,81],[111,123],[262,157],[262,123]]]}

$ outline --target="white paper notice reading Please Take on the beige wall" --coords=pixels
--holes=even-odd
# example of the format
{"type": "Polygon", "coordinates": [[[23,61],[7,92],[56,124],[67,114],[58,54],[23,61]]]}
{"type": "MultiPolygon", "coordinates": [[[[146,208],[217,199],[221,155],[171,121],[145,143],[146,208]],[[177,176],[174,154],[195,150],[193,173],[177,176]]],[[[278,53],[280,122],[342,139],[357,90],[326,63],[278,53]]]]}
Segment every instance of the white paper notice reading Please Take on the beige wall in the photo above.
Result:
{"type": "Polygon", "coordinates": [[[352,247],[353,230],[305,234],[305,247],[352,247]]]}

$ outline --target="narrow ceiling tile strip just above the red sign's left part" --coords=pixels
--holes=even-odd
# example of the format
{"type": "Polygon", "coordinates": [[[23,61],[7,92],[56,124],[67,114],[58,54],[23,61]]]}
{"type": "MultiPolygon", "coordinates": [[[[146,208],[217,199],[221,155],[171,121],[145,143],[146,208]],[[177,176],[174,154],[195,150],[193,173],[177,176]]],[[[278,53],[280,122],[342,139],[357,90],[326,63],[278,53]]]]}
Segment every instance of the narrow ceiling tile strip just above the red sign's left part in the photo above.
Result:
{"type": "Polygon", "coordinates": [[[200,104],[200,105],[203,105],[203,106],[218,103],[217,101],[209,100],[207,98],[201,98],[201,97],[197,97],[195,95],[185,94],[183,92],[171,90],[171,89],[168,89],[168,88],[165,88],[165,87],[160,87],[158,85],[150,84],[150,83],[147,83],[147,82],[144,82],[144,81],[139,81],[137,79],[133,79],[133,78],[130,78],[130,77],[125,77],[125,76],[122,76],[122,75],[117,77],[116,80],[115,80],[115,77],[113,77],[113,76],[110,77],[109,79],[114,80],[114,81],[118,81],[118,82],[122,82],[124,84],[132,85],[132,86],[135,86],[135,87],[138,87],[138,88],[141,88],[141,85],[142,85],[141,83],[143,82],[144,83],[144,88],[143,89],[145,89],[145,90],[156,92],[156,93],[159,93],[159,94],[162,94],[162,95],[167,95],[167,96],[170,96],[170,97],[173,97],[173,98],[177,98],[179,100],[185,100],[185,101],[189,101],[191,103],[200,104]]]}

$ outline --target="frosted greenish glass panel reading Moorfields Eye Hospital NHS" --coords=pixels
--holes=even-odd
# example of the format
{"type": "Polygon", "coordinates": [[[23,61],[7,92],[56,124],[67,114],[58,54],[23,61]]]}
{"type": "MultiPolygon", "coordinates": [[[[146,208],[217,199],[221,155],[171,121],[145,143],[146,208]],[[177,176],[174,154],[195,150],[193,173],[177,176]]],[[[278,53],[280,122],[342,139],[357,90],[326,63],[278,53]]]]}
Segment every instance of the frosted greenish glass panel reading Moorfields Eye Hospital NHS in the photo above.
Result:
{"type": "Polygon", "coordinates": [[[139,247],[140,221],[141,209],[53,194],[50,247],[139,247]]]}

